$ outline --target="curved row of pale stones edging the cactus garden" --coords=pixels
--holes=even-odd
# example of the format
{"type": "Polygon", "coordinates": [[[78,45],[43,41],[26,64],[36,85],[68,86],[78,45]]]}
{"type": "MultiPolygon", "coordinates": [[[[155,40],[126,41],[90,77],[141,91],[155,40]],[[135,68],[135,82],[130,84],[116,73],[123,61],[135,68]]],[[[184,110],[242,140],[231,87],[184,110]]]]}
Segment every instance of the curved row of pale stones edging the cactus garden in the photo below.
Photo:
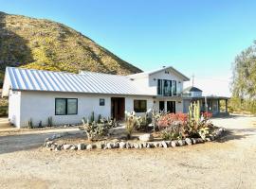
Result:
{"type": "Polygon", "coordinates": [[[119,149],[125,149],[125,148],[136,148],[136,149],[141,149],[141,148],[159,148],[159,147],[176,147],[176,146],[191,146],[191,145],[196,145],[196,144],[202,144],[205,142],[210,142],[218,139],[221,137],[226,129],[224,128],[218,128],[215,129],[210,137],[207,137],[206,139],[202,138],[185,138],[182,140],[172,140],[172,141],[157,141],[157,142],[138,142],[138,143],[129,143],[125,141],[117,141],[117,142],[102,142],[99,144],[57,144],[55,142],[55,139],[61,138],[68,133],[64,132],[62,134],[54,134],[50,138],[46,138],[44,146],[48,150],[53,150],[53,151],[60,151],[60,150],[92,150],[92,149],[114,149],[114,148],[119,148],[119,149]]]}

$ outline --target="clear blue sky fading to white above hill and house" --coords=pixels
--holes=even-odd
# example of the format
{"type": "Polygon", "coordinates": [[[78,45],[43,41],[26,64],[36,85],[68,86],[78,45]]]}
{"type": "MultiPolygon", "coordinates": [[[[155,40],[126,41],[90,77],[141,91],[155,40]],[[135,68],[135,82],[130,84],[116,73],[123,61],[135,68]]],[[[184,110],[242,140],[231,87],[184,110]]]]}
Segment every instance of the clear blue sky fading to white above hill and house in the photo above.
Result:
{"type": "Polygon", "coordinates": [[[252,0],[0,0],[0,11],[71,26],[145,71],[173,65],[205,94],[229,95],[231,63],[256,40],[252,0]]]}

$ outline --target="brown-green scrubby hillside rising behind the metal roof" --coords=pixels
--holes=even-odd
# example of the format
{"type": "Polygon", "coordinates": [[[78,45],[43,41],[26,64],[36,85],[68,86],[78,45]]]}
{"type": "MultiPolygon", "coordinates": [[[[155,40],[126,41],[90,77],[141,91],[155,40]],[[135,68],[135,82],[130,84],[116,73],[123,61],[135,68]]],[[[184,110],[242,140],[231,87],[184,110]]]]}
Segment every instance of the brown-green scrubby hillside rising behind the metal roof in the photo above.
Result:
{"type": "Polygon", "coordinates": [[[76,30],[45,19],[0,12],[0,72],[6,66],[128,75],[141,72],[76,30]]]}

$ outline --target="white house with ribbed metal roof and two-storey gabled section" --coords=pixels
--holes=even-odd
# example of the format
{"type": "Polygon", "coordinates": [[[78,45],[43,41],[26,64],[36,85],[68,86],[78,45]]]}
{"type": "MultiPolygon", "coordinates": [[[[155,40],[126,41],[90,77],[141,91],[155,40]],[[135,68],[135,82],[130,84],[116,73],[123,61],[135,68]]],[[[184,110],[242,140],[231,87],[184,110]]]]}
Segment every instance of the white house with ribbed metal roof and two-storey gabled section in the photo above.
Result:
{"type": "MultiPolygon", "coordinates": [[[[183,95],[183,82],[189,80],[172,66],[130,76],[7,67],[2,96],[9,96],[9,122],[15,127],[27,127],[30,119],[46,126],[49,117],[54,125],[79,124],[92,112],[118,120],[125,111],[187,112],[188,100],[204,99],[183,95]]],[[[220,99],[213,99],[216,113],[220,99]]]]}

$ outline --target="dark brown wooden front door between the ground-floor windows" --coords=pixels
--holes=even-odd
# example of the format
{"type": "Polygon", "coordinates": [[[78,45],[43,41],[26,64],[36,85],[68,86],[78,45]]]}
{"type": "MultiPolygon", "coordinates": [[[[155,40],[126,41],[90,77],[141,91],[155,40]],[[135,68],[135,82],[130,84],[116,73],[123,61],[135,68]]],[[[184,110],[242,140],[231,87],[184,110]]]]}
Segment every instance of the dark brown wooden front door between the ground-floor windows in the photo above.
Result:
{"type": "Polygon", "coordinates": [[[124,97],[111,98],[111,117],[116,120],[124,119],[125,100],[124,97]]]}

